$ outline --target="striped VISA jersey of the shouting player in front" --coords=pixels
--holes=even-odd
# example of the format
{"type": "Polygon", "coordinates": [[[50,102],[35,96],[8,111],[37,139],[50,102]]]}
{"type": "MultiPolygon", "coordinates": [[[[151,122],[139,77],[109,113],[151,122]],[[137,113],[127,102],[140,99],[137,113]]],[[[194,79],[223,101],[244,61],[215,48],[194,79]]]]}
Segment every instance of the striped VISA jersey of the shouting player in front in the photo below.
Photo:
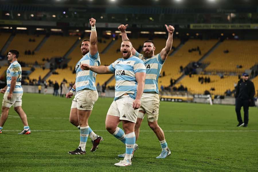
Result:
{"type": "Polygon", "coordinates": [[[146,67],[139,58],[132,56],[128,59],[119,58],[112,64],[109,69],[115,73],[115,101],[124,94],[128,94],[132,99],[136,98],[137,81],[135,73],[146,73],[146,67]]]}

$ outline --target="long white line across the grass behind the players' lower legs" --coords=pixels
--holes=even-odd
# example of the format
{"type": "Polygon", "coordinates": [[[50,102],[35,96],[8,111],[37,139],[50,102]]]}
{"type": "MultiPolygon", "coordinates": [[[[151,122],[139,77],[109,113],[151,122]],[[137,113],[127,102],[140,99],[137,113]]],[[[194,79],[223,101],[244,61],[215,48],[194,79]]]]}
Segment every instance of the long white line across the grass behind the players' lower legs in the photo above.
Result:
{"type": "MultiPolygon", "coordinates": [[[[16,132],[21,130],[3,130],[16,132]]],[[[31,130],[32,132],[79,132],[79,130],[31,130]]],[[[107,130],[94,130],[95,132],[102,132],[107,130]]],[[[140,132],[153,132],[152,130],[140,130],[140,132]]],[[[164,130],[164,132],[258,132],[258,130],[164,130]]]]}

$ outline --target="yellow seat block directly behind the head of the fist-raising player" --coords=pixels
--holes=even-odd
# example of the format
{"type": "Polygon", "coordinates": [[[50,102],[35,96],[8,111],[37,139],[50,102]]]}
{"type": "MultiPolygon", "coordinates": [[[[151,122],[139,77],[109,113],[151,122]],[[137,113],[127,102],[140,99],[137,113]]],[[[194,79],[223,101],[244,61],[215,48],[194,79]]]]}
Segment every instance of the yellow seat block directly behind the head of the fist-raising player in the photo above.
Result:
{"type": "MultiPolygon", "coordinates": [[[[83,38],[86,39],[86,38],[83,38]]],[[[81,41],[83,40],[81,39],[81,41]]],[[[87,38],[89,39],[89,38],[87,38]]],[[[81,54],[81,41],[78,42],[76,48],[71,52],[71,54],[69,54],[68,58],[70,58],[71,60],[68,62],[68,67],[75,67],[75,65],[77,64],[77,62],[82,58],[82,54],[81,54]]],[[[104,48],[111,42],[112,40],[105,40],[105,43],[102,41],[101,43],[98,43],[98,51],[99,51],[99,56],[100,56],[100,62],[102,65],[102,57],[103,55],[101,55],[101,52],[104,50],[104,48]]]]}

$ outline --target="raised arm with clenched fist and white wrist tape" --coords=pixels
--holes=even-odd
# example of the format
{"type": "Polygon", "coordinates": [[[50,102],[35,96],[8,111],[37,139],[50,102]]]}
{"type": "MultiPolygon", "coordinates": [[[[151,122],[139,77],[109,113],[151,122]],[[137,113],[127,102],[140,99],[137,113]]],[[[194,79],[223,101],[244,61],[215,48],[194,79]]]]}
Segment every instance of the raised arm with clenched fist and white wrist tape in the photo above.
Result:
{"type": "Polygon", "coordinates": [[[95,27],[96,20],[91,18],[90,24],[91,24],[91,36],[90,36],[90,45],[89,45],[89,52],[93,56],[97,53],[98,47],[97,47],[97,31],[95,27]]]}

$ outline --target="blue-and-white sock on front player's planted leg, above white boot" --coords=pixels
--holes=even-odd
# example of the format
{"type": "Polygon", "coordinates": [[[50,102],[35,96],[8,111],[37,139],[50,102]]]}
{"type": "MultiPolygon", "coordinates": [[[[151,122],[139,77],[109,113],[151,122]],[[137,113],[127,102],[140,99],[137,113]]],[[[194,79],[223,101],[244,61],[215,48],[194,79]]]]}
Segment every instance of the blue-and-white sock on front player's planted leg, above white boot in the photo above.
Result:
{"type": "Polygon", "coordinates": [[[134,132],[126,134],[126,155],[124,158],[129,162],[131,161],[132,152],[134,150],[135,138],[134,132]]]}

